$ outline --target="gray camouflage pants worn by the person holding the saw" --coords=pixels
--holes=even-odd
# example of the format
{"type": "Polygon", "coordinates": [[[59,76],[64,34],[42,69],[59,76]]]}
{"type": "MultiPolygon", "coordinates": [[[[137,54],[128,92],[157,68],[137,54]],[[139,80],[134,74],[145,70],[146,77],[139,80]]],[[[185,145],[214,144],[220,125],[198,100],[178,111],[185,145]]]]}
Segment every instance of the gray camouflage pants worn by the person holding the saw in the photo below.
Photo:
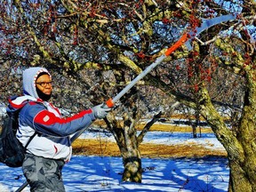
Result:
{"type": "Polygon", "coordinates": [[[64,161],[26,154],[22,170],[28,180],[30,191],[64,192],[61,170],[64,161]]]}

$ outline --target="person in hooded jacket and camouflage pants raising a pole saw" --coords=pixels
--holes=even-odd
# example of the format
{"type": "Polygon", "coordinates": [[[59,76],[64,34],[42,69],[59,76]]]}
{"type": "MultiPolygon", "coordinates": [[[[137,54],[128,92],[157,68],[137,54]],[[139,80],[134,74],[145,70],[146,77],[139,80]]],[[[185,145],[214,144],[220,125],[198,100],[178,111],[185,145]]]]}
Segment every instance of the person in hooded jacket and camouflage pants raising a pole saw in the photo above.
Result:
{"type": "Polygon", "coordinates": [[[30,191],[65,191],[61,170],[71,157],[70,135],[107,116],[111,108],[103,104],[74,116],[62,117],[49,102],[52,76],[46,68],[28,68],[23,72],[23,95],[9,99],[7,112],[19,110],[16,137],[26,148],[22,171],[30,191]]]}

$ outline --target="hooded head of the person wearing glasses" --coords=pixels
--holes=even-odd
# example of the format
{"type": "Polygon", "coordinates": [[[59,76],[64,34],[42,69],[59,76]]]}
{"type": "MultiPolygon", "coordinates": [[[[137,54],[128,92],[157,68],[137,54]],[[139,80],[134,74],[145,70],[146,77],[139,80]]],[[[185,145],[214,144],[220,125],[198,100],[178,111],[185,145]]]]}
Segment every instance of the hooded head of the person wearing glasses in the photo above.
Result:
{"type": "Polygon", "coordinates": [[[52,76],[46,68],[28,68],[23,72],[23,93],[36,99],[50,100],[52,76]]]}

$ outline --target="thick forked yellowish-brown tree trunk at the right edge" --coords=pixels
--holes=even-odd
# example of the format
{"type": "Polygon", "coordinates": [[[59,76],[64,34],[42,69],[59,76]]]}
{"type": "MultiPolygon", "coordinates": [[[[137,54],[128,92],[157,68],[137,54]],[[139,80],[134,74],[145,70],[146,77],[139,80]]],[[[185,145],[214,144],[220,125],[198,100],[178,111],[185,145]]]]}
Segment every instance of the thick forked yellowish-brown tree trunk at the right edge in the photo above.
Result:
{"type": "MultiPolygon", "coordinates": [[[[256,89],[253,90],[256,91],[256,89]]],[[[205,89],[201,90],[202,115],[228,152],[230,167],[228,192],[256,191],[256,118],[254,117],[256,105],[253,104],[252,92],[248,92],[248,95],[251,97],[245,96],[243,115],[240,119],[238,132],[234,134],[213,108],[208,92],[205,89]]]]}

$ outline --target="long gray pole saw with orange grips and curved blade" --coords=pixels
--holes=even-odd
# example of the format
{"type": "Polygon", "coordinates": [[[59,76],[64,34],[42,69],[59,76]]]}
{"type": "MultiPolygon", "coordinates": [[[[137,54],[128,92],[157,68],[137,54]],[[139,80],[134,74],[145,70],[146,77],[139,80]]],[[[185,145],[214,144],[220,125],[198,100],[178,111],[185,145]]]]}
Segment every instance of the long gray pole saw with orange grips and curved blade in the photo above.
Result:
{"type": "MultiPolygon", "coordinates": [[[[165,58],[167,58],[172,52],[177,50],[182,44],[185,44],[188,52],[192,50],[192,40],[198,36],[200,33],[202,33],[207,28],[211,28],[214,25],[220,24],[221,22],[227,22],[228,20],[236,20],[236,14],[228,14],[228,15],[221,15],[220,17],[212,18],[210,20],[204,20],[204,22],[201,24],[200,27],[196,28],[196,32],[187,32],[183,34],[183,36],[180,37],[180,39],[175,43],[172,44],[171,47],[169,47],[163,55],[156,58],[155,62],[153,62],[151,65],[149,65],[147,68],[145,68],[140,75],[136,76],[130,84],[127,84],[124,89],[117,93],[116,96],[113,99],[109,99],[105,103],[105,107],[113,108],[115,106],[116,101],[120,100],[121,97],[124,96],[126,92],[128,92],[134,84],[140,81],[144,76],[146,76],[153,68],[156,68],[157,65],[159,65],[165,58]]],[[[104,107],[103,107],[104,108],[104,107]]],[[[84,127],[79,132],[76,132],[71,138],[71,143],[74,142],[85,130],[88,129],[88,127],[91,124],[89,124],[87,127],[84,127]]],[[[25,181],[20,188],[18,188],[15,192],[20,192],[24,188],[28,186],[28,181],[25,181]]]]}

